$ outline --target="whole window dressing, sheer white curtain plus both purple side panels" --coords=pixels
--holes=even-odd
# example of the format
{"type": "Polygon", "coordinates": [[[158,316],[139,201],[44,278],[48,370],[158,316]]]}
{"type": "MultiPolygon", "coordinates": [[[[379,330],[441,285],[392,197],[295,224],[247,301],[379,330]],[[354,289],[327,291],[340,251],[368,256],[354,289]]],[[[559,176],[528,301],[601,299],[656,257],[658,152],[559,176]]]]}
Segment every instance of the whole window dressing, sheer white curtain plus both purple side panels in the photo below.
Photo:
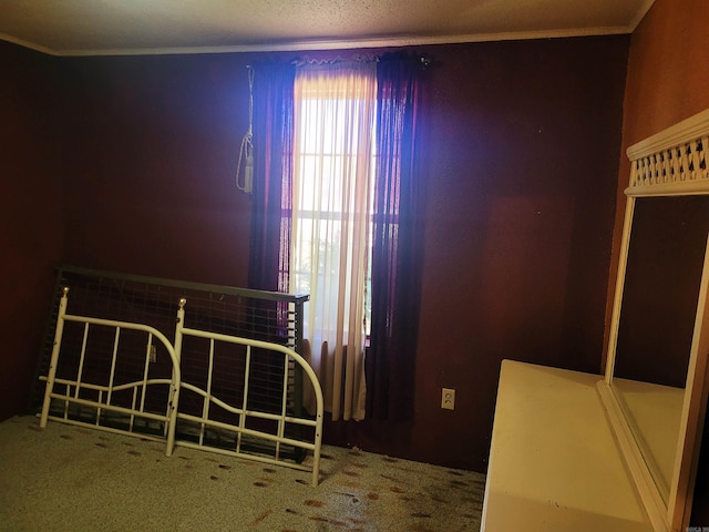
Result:
{"type": "Polygon", "coordinates": [[[363,418],[364,402],[378,419],[413,416],[425,64],[393,52],[256,69],[249,287],[310,294],[306,339],[333,420],[363,418]]]}

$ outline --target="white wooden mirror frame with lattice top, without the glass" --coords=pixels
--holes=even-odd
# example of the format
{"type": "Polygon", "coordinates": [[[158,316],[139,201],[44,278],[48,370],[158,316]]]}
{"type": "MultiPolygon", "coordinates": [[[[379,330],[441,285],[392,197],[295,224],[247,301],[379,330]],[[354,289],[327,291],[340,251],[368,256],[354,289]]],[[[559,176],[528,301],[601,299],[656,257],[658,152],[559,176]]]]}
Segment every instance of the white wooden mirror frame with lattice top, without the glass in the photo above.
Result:
{"type": "Polygon", "coordinates": [[[691,516],[693,485],[709,390],[707,372],[709,241],[705,249],[675,467],[667,502],[646,463],[641,446],[635,438],[631,423],[625,416],[612,382],[635,201],[638,197],[709,195],[709,109],[634,144],[627,150],[627,155],[631,164],[630,183],[625,190],[625,222],[610,320],[606,375],[605,379],[598,382],[598,391],[654,530],[657,532],[685,531],[689,526],[691,516]]]}

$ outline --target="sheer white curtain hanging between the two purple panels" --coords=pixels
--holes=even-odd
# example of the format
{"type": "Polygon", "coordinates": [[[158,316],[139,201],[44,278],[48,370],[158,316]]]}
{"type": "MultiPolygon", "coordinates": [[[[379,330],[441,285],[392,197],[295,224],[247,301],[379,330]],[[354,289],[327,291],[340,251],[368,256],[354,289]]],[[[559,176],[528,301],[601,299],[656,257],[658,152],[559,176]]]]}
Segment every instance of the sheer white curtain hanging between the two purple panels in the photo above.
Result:
{"type": "Polygon", "coordinates": [[[291,293],[332,419],[363,419],[377,64],[296,71],[291,293]]]}

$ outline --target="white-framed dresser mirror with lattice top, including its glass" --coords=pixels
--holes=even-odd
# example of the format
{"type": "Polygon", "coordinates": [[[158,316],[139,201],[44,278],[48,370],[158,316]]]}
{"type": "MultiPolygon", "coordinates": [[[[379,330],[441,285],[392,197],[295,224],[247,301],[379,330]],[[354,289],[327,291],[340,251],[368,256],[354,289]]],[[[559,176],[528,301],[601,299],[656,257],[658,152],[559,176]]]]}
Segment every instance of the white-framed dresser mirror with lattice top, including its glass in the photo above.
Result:
{"type": "Polygon", "coordinates": [[[630,146],[598,393],[657,532],[689,526],[709,390],[709,110],[630,146]]]}

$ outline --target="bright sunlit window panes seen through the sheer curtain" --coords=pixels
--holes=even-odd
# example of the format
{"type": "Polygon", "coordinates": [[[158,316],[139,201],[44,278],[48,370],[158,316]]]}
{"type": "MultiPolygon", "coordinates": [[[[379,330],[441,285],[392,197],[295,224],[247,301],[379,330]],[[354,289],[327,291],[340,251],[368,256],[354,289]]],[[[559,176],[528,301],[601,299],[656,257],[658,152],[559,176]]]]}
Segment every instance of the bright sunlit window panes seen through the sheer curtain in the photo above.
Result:
{"type": "MultiPolygon", "coordinates": [[[[333,328],[326,317],[337,308],[340,267],[348,284],[357,283],[352,260],[359,253],[364,264],[364,286],[359,287],[364,295],[363,327],[369,332],[374,194],[370,113],[376,111],[376,84],[352,86],[339,79],[341,73],[322,74],[296,79],[291,290],[317,296],[311,323],[333,328]],[[362,249],[348,242],[354,231],[364,232],[362,249]]],[[[361,242],[358,238],[357,245],[361,242]]]]}

